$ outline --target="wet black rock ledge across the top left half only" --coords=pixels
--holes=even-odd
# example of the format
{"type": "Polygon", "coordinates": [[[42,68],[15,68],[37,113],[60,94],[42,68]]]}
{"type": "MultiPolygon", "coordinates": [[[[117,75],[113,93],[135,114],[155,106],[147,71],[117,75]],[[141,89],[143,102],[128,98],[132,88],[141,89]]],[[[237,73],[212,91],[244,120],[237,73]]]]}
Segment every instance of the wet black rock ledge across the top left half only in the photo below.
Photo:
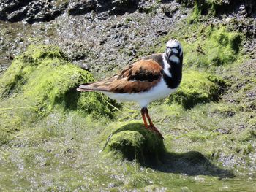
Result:
{"type": "Polygon", "coordinates": [[[50,21],[64,12],[69,15],[83,15],[88,12],[109,12],[111,15],[122,15],[135,12],[139,0],[72,0],[72,1],[10,1],[0,3],[0,20],[28,23],[50,21]]]}

